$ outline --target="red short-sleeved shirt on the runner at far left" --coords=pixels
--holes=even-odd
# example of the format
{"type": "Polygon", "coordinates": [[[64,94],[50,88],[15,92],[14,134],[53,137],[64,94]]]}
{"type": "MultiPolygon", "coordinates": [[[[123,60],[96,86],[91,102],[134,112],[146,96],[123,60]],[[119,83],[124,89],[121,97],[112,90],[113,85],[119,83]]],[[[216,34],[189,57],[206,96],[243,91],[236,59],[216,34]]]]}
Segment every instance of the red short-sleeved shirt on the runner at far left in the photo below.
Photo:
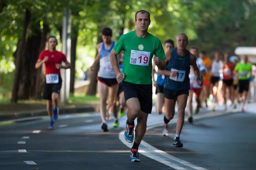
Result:
{"type": "Polygon", "coordinates": [[[55,64],[61,62],[66,62],[67,58],[66,55],[64,55],[60,51],[54,51],[51,52],[50,50],[44,50],[40,53],[39,58],[40,60],[43,60],[44,57],[48,56],[48,60],[44,62],[45,64],[45,75],[46,74],[59,74],[60,77],[60,69],[57,69],[55,64]]]}

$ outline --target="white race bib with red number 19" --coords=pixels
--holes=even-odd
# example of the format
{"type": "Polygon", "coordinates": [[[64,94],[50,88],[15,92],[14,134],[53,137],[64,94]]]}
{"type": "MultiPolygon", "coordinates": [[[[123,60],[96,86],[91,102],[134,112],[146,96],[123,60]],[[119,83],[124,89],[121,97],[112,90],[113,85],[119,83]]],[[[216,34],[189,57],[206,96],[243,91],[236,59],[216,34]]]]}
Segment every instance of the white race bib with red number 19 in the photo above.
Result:
{"type": "Polygon", "coordinates": [[[131,50],[130,64],[148,66],[150,52],[131,50]]]}

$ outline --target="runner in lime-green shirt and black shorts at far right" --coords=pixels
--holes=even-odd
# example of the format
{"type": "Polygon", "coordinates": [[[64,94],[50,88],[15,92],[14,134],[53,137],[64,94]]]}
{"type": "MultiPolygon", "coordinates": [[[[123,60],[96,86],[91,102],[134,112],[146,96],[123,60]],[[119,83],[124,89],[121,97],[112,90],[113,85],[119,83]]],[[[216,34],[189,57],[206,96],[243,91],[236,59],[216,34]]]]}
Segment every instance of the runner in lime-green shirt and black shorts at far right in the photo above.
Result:
{"type": "Polygon", "coordinates": [[[242,107],[242,112],[244,112],[244,106],[247,102],[248,90],[249,90],[249,78],[250,75],[253,77],[252,64],[248,62],[248,56],[243,56],[243,62],[237,63],[235,67],[235,73],[238,76],[238,86],[239,86],[239,99],[244,93],[244,102],[242,107]]]}

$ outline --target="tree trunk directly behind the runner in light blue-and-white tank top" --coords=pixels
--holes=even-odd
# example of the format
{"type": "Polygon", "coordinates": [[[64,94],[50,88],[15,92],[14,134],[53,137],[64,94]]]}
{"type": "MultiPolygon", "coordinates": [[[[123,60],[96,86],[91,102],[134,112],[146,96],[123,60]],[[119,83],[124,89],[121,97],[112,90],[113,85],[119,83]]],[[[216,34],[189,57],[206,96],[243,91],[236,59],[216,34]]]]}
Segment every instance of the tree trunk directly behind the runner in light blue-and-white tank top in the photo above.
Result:
{"type": "MultiPolygon", "coordinates": [[[[100,42],[102,42],[102,37],[98,36],[97,44],[100,43],[100,42]]],[[[96,49],[96,56],[97,55],[98,55],[98,50],[96,49]]],[[[95,95],[96,94],[96,90],[97,90],[97,75],[98,75],[99,69],[100,69],[100,63],[95,65],[95,67],[92,70],[91,82],[90,82],[90,85],[89,85],[88,90],[86,92],[86,95],[95,95]]]]}

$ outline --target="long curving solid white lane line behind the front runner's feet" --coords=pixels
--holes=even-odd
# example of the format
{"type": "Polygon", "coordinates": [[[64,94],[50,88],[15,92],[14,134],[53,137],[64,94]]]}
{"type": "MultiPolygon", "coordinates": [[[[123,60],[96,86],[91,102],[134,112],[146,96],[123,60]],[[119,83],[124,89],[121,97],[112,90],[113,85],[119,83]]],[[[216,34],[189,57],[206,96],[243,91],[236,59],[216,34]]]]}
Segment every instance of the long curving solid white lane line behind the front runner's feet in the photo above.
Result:
{"type": "MultiPolygon", "coordinates": [[[[215,116],[219,116],[219,115],[226,115],[226,114],[229,114],[231,113],[230,111],[226,111],[226,112],[223,112],[223,111],[219,111],[219,112],[210,112],[208,114],[204,114],[204,115],[197,115],[197,116],[194,116],[194,120],[198,120],[198,119],[203,119],[203,118],[208,118],[208,117],[215,117],[215,116]]],[[[185,118],[185,121],[187,121],[187,118],[185,118]]],[[[172,119],[169,124],[174,124],[177,122],[177,118],[175,119],[172,119]]],[[[155,128],[155,127],[158,127],[158,126],[161,126],[163,122],[157,122],[157,123],[152,123],[151,125],[149,125],[147,127],[147,130],[148,129],[152,129],[152,128],[155,128]]],[[[132,143],[127,143],[124,139],[124,131],[121,131],[119,133],[119,139],[128,147],[132,147],[132,143]]],[[[194,168],[194,169],[198,169],[198,170],[207,170],[203,167],[199,167],[199,166],[196,166],[194,164],[191,164],[187,161],[184,161],[182,159],[179,159],[179,158],[176,158],[164,151],[161,151],[153,146],[151,146],[150,144],[146,143],[145,141],[141,141],[140,143],[140,149],[142,149],[143,152],[141,152],[141,150],[139,150],[139,152],[141,152],[141,154],[151,158],[151,159],[155,159],[157,160],[158,162],[161,162],[167,166],[170,166],[174,169],[185,169],[185,168],[182,168],[180,166],[177,166],[177,162],[179,162],[180,164],[183,164],[183,165],[186,165],[186,166],[189,166],[191,168],[194,168]],[[154,155],[155,156],[152,156],[152,153],[155,153],[154,155]],[[166,159],[168,158],[168,159],[166,159]],[[176,164],[175,164],[176,163],[176,164]]]]}

